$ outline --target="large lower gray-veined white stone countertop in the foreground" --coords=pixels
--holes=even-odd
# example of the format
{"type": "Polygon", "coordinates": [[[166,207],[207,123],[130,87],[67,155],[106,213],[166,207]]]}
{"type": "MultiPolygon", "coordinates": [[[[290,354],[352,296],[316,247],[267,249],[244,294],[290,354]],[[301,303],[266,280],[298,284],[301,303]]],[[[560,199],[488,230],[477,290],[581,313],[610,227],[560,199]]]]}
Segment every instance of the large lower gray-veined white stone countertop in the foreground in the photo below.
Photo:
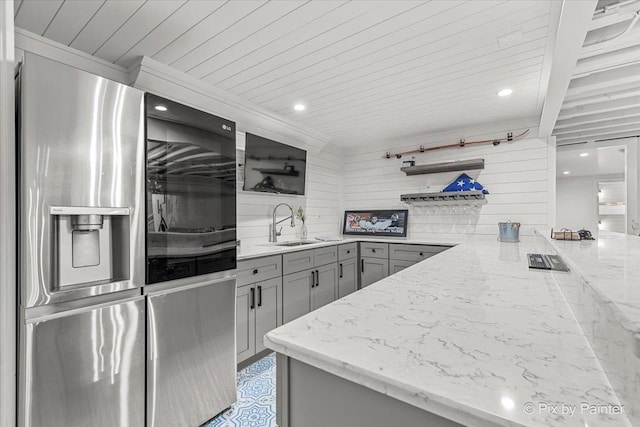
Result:
{"type": "Polygon", "coordinates": [[[458,243],[271,331],[265,345],[464,425],[630,426],[590,413],[619,402],[552,273],[529,270],[526,254],[543,250],[534,238],[458,243]]]}

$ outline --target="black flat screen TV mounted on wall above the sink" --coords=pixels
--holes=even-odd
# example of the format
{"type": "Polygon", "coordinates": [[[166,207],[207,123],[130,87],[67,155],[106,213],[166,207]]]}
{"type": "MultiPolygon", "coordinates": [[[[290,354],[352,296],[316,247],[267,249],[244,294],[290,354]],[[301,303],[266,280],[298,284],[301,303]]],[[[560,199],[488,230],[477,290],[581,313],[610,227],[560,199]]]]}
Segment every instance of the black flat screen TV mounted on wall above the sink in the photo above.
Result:
{"type": "Polygon", "coordinates": [[[305,150],[247,133],[244,168],[245,191],[304,194],[305,150]]]}

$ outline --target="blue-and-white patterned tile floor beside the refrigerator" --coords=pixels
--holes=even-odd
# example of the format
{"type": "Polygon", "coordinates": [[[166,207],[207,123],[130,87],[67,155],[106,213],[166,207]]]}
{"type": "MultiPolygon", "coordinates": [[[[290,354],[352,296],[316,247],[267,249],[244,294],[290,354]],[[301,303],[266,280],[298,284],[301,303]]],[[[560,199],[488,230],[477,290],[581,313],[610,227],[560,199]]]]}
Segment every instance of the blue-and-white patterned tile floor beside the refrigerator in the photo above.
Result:
{"type": "Polygon", "coordinates": [[[274,353],[238,372],[238,401],[205,427],[278,427],[274,353]]]}

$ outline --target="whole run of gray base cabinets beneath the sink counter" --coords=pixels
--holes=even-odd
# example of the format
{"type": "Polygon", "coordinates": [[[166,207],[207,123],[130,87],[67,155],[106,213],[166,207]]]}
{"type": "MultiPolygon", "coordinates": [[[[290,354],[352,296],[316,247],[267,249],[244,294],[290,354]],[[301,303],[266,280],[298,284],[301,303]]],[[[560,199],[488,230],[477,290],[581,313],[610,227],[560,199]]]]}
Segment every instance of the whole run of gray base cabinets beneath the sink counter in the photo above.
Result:
{"type": "Polygon", "coordinates": [[[241,261],[236,312],[238,361],[262,351],[264,334],[282,323],[447,248],[352,242],[241,261]]]}

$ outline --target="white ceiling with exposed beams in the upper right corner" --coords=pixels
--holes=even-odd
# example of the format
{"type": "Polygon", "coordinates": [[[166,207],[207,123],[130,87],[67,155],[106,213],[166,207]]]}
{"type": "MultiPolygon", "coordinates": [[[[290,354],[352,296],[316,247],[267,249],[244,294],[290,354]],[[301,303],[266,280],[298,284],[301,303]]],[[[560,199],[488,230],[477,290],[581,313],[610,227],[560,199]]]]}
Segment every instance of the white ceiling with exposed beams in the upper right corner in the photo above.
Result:
{"type": "Polygon", "coordinates": [[[559,145],[640,135],[639,13],[637,0],[598,2],[553,131],[559,145]]]}

